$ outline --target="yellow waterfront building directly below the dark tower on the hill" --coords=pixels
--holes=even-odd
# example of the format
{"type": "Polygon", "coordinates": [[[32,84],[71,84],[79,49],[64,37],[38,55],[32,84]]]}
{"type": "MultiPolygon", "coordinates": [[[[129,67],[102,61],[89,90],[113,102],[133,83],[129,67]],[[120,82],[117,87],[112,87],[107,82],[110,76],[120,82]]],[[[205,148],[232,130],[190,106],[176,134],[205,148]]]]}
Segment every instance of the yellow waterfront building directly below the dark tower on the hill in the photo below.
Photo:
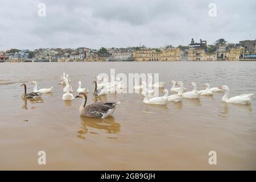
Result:
{"type": "Polygon", "coordinates": [[[216,53],[206,53],[204,49],[188,49],[188,61],[216,61],[216,53]]]}

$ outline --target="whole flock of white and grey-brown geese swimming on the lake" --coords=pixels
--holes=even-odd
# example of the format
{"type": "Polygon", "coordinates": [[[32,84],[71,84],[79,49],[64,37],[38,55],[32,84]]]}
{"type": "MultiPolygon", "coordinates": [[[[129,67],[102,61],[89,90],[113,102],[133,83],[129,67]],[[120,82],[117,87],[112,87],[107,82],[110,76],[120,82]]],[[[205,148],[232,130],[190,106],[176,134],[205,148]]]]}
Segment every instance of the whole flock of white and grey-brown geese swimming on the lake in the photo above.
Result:
{"type": "MultiPolygon", "coordinates": [[[[106,80],[106,78],[101,78],[100,76],[96,76],[96,81],[93,81],[94,84],[94,96],[104,96],[108,93],[115,93],[115,89],[127,89],[127,84],[123,83],[120,78],[111,77],[110,82],[106,80]]],[[[72,90],[72,86],[70,85],[71,80],[68,77],[68,74],[63,73],[60,78],[60,84],[65,85],[63,88],[63,97],[64,101],[72,101],[75,99],[72,90]]],[[[205,90],[197,90],[197,86],[195,82],[192,82],[193,90],[186,92],[187,88],[184,88],[183,82],[171,81],[172,87],[170,92],[176,93],[172,95],[168,95],[169,92],[167,89],[163,89],[164,95],[162,97],[155,96],[155,88],[164,88],[165,82],[157,82],[152,84],[152,76],[148,76],[149,83],[147,84],[145,81],[142,81],[138,84],[138,81],[134,79],[134,90],[141,91],[142,96],[144,96],[143,102],[145,104],[152,105],[167,105],[168,102],[181,102],[183,98],[189,99],[199,99],[200,96],[213,96],[215,92],[224,92],[224,96],[222,97],[222,101],[234,104],[250,104],[250,97],[253,96],[254,93],[242,94],[236,97],[229,97],[229,88],[228,86],[220,86],[210,88],[209,84],[205,84],[205,90]],[[179,85],[176,87],[176,85],[179,85]]],[[[22,94],[22,98],[24,99],[36,99],[42,96],[44,93],[51,92],[52,88],[48,89],[39,89],[36,81],[32,81],[31,84],[34,85],[33,92],[27,93],[26,84],[22,84],[20,86],[24,86],[24,93],[22,94]]],[[[94,118],[106,118],[113,114],[115,108],[120,104],[120,102],[95,102],[94,104],[86,105],[87,96],[86,93],[89,93],[89,90],[86,88],[82,88],[81,81],[79,81],[79,87],[76,92],[78,93],[77,97],[82,98],[82,103],[79,108],[80,114],[86,117],[94,117],[94,118]]]]}

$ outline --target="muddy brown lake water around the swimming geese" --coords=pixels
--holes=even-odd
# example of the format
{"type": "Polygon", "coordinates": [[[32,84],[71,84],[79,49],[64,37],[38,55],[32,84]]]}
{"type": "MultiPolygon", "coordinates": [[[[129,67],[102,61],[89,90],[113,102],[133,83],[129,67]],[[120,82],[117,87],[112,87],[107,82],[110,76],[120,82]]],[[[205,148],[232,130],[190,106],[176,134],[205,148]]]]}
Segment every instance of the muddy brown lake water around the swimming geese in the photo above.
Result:
{"type": "MultiPolygon", "coordinates": [[[[159,73],[159,81],[183,81],[191,90],[228,85],[230,96],[256,90],[256,62],[105,62],[0,64],[0,169],[256,169],[256,104],[221,102],[223,93],[167,106],[143,104],[141,94],[94,98],[98,73],[159,73]],[[113,117],[80,117],[81,99],[61,99],[62,73],[75,91],[88,88],[88,104],[121,101],[113,117]],[[23,82],[53,87],[42,100],[23,101],[23,82]],[[46,151],[46,165],[38,164],[46,151]],[[209,151],[217,165],[209,165],[209,151]]],[[[76,92],[73,93],[76,96],[76,92]]]]}

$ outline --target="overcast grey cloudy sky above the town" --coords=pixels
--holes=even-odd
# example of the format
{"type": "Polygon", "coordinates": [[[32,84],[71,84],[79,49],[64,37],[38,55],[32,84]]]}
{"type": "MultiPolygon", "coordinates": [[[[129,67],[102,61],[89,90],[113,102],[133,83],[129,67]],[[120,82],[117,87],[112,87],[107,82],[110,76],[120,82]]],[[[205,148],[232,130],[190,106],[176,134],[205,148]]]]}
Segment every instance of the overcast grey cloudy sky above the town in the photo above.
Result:
{"type": "Polygon", "coordinates": [[[256,39],[255,0],[1,0],[0,50],[187,46],[256,39]],[[46,16],[38,16],[38,4],[46,16]],[[217,16],[210,17],[209,3],[217,16]]]}

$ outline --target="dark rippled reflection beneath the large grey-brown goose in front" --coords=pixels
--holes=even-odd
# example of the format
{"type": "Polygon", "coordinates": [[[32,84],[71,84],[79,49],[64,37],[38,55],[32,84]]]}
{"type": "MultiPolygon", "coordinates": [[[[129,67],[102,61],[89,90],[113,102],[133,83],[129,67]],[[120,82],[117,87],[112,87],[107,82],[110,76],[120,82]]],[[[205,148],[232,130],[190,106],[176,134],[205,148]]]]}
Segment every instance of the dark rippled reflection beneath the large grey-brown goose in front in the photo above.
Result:
{"type": "Polygon", "coordinates": [[[103,130],[108,134],[118,134],[121,130],[121,125],[115,122],[114,117],[109,118],[88,118],[80,116],[80,127],[81,130],[77,131],[77,137],[85,139],[84,134],[98,134],[94,129],[103,130]]]}

